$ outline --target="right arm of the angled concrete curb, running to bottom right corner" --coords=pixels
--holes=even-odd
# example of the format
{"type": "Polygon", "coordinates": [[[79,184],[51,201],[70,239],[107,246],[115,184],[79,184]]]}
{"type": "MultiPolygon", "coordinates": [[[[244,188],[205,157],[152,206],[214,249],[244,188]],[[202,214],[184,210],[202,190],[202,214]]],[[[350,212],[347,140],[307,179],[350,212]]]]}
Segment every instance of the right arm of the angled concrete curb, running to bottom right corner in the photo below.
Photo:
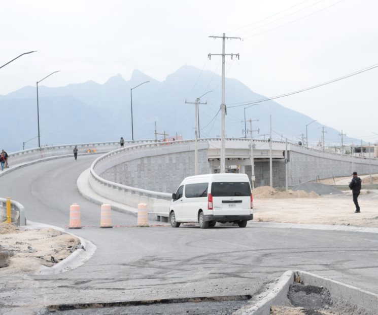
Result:
{"type": "MultiPolygon", "coordinates": [[[[301,283],[324,287],[331,293],[332,302],[346,302],[354,313],[376,315],[378,310],[378,294],[371,293],[335,280],[326,279],[314,273],[296,271],[301,283]]],[[[341,306],[340,306],[341,307],[341,306]]],[[[340,309],[341,310],[341,309],[340,309]]]]}

